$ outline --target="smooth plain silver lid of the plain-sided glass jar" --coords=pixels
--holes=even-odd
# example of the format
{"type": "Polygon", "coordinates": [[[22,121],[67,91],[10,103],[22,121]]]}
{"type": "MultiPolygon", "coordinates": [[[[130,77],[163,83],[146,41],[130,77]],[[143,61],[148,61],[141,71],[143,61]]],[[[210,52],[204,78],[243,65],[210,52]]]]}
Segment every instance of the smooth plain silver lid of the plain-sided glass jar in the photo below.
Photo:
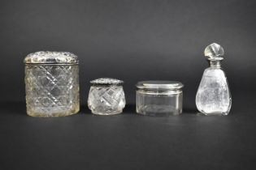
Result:
{"type": "Polygon", "coordinates": [[[137,83],[139,89],[177,90],[184,85],[176,81],[141,81],[137,83]]]}

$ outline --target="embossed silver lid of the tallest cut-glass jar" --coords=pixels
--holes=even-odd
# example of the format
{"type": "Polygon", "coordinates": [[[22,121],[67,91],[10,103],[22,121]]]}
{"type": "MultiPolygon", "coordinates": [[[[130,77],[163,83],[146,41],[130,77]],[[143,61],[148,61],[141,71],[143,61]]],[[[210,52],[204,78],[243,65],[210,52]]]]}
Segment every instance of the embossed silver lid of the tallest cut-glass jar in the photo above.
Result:
{"type": "Polygon", "coordinates": [[[78,64],[78,57],[69,52],[39,51],[29,53],[25,64],[78,64]]]}

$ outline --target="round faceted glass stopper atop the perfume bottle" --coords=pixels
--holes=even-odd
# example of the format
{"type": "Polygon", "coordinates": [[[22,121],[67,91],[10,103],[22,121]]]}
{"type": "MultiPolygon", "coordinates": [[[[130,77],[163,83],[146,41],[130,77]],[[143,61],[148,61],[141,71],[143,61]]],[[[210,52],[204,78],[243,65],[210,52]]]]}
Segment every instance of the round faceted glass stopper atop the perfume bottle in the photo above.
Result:
{"type": "Polygon", "coordinates": [[[209,59],[223,59],[224,49],[222,46],[213,43],[208,45],[205,49],[205,56],[209,59]]]}

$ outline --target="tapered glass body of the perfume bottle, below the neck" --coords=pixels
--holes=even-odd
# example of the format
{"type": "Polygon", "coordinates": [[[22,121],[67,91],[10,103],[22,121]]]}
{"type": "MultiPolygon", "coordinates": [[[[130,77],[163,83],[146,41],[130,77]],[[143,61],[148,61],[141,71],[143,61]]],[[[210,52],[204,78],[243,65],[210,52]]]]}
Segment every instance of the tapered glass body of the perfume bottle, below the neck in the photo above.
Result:
{"type": "Polygon", "coordinates": [[[228,81],[219,66],[210,66],[204,71],[197,90],[197,109],[205,115],[228,115],[231,108],[228,81]]]}

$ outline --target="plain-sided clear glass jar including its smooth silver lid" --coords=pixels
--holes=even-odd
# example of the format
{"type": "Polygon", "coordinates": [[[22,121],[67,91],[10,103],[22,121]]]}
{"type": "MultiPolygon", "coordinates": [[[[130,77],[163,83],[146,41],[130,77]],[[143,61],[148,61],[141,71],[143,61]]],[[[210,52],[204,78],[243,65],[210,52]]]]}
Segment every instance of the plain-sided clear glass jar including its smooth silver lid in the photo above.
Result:
{"type": "Polygon", "coordinates": [[[182,113],[183,84],[175,81],[141,81],[137,83],[137,113],[169,116],[182,113]]]}

